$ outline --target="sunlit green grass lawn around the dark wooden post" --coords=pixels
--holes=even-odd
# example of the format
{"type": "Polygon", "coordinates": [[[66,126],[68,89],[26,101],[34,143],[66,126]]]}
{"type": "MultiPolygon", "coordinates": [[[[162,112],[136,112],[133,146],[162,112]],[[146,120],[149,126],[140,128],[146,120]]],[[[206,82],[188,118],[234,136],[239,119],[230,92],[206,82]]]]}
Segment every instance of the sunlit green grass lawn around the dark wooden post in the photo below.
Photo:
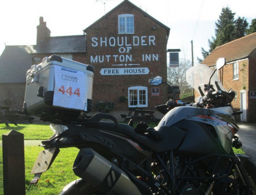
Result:
{"type": "MultiPolygon", "coordinates": [[[[135,123],[136,124],[136,123],[135,123]]],[[[134,126],[135,126],[134,124],[134,126]]],[[[155,126],[154,123],[149,123],[149,126],[155,126]]],[[[1,135],[15,130],[24,135],[25,140],[46,140],[50,138],[53,133],[49,128],[49,124],[18,124],[15,126],[10,124],[6,127],[5,124],[0,124],[1,135]]],[[[2,140],[2,136],[0,136],[2,140]]],[[[38,184],[29,184],[33,175],[30,175],[32,167],[38,156],[38,153],[44,150],[40,146],[25,146],[25,179],[26,179],[26,195],[56,195],[69,184],[71,181],[78,177],[74,174],[72,168],[76,159],[79,149],[65,148],[60,149],[55,161],[49,170],[41,175],[38,184]]],[[[244,153],[241,149],[235,150],[235,153],[244,153]]],[[[15,182],[15,181],[14,181],[15,182]]],[[[0,195],[3,194],[3,151],[0,149],[0,195]]]]}

